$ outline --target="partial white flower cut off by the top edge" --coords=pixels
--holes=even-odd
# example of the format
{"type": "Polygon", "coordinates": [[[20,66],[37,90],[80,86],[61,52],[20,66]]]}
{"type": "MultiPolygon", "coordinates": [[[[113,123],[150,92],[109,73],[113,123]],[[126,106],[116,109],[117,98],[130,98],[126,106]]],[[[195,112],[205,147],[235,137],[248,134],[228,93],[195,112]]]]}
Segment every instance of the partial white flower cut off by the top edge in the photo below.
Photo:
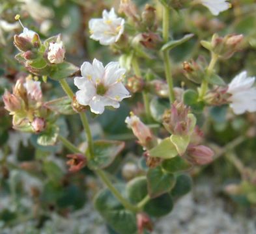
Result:
{"type": "Polygon", "coordinates": [[[218,16],[220,12],[231,8],[231,3],[226,0],[201,0],[201,4],[206,6],[214,16],[218,16]]]}

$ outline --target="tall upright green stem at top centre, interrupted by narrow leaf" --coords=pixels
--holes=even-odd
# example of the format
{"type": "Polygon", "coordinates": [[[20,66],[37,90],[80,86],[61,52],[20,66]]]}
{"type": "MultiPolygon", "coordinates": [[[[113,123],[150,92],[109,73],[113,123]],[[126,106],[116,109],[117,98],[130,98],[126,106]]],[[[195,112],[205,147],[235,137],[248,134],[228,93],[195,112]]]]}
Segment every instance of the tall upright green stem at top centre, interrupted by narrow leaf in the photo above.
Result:
{"type": "MultiPolygon", "coordinates": [[[[163,16],[163,39],[164,42],[168,42],[169,40],[169,8],[163,6],[164,16],[163,16]]],[[[169,100],[170,103],[175,101],[175,92],[173,90],[173,77],[171,75],[171,60],[169,57],[169,50],[163,52],[163,59],[164,59],[164,70],[165,70],[165,79],[168,84],[169,90],[169,100]]]]}

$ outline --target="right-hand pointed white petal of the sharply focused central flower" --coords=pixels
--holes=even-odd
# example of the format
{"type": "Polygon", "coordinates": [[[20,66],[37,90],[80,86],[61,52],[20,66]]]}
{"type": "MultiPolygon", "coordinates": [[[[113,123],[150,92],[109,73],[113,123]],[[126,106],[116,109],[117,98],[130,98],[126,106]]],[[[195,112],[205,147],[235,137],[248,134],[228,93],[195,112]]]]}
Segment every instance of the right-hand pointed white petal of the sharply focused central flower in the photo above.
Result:
{"type": "Polygon", "coordinates": [[[128,90],[122,85],[121,82],[111,85],[107,90],[105,96],[116,101],[122,101],[124,98],[130,98],[128,90]]]}

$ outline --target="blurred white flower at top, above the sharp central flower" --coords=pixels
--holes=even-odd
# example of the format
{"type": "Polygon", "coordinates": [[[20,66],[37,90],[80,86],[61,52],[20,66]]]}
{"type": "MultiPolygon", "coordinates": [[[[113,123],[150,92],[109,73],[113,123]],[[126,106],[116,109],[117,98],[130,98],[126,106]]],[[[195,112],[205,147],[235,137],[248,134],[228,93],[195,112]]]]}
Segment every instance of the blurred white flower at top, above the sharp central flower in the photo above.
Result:
{"type": "Polygon", "coordinates": [[[109,12],[102,12],[102,18],[90,19],[89,29],[93,40],[102,45],[111,45],[117,42],[124,32],[124,19],[118,18],[114,8],[111,8],[109,12]]]}

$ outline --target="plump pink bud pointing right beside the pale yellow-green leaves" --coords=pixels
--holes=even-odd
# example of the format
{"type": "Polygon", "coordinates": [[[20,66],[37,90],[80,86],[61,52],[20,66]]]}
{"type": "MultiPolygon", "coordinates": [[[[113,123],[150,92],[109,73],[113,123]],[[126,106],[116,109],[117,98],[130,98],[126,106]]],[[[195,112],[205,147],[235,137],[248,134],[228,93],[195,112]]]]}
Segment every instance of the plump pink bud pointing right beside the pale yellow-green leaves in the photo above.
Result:
{"type": "Polygon", "coordinates": [[[188,146],[188,161],[193,164],[205,165],[213,161],[214,151],[207,146],[188,146]]]}

